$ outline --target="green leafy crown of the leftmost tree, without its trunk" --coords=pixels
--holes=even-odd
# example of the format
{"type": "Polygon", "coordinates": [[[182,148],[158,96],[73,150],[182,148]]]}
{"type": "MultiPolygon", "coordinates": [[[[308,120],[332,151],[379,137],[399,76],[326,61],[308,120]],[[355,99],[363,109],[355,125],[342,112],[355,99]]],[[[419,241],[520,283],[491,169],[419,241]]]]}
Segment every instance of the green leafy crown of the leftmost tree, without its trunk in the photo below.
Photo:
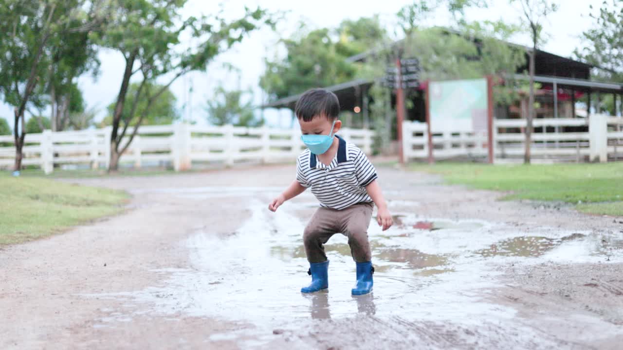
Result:
{"type": "MultiPolygon", "coordinates": [[[[42,84],[50,76],[62,80],[77,61],[84,64],[77,36],[84,37],[103,16],[105,1],[89,2],[91,8],[78,0],[5,0],[0,6],[0,95],[12,106],[32,103],[45,105],[47,94],[42,84]],[[82,5],[82,6],[80,6],[82,5]],[[59,63],[61,62],[62,63],[59,63]],[[55,66],[54,63],[59,66],[55,66]],[[59,70],[55,70],[58,68],[59,70]],[[50,72],[51,71],[51,72],[50,72]],[[34,78],[34,80],[32,79],[34,78]],[[33,83],[28,93],[28,84],[33,83]]],[[[93,54],[90,51],[89,55],[93,54]]],[[[82,72],[77,72],[76,74],[82,72]]]]}

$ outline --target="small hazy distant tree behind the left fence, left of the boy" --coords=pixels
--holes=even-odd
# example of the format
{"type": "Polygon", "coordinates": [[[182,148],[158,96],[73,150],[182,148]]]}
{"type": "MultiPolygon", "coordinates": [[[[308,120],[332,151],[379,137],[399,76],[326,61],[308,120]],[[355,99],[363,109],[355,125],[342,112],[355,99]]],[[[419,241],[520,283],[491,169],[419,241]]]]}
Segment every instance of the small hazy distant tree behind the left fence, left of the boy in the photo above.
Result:
{"type": "Polygon", "coordinates": [[[253,95],[250,90],[227,91],[224,87],[216,88],[214,98],[207,102],[207,121],[213,125],[261,126],[264,120],[253,113],[253,95]],[[244,95],[249,95],[246,102],[244,95]]]}

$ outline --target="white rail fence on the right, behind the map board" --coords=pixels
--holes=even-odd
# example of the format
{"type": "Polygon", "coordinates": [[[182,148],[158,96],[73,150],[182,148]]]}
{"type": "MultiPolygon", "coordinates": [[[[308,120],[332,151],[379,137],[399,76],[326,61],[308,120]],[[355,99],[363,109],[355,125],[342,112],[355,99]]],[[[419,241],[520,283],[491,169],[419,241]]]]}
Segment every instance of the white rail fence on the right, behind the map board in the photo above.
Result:
{"type": "MultiPolygon", "coordinates": [[[[534,120],[531,155],[535,163],[555,161],[623,160],[623,118],[591,115],[580,118],[534,120]],[[538,132],[536,132],[538,131],[538,132]]],[[[493,121],[495,163],[523,161],[526,120],[493,121]]],[[[407,121],[402,126],[404,159],[427,159],[426,123],[407,121]]],[[[483,158],[488,154],[487,133],[432,131],[435,159],[483,158]]]]}

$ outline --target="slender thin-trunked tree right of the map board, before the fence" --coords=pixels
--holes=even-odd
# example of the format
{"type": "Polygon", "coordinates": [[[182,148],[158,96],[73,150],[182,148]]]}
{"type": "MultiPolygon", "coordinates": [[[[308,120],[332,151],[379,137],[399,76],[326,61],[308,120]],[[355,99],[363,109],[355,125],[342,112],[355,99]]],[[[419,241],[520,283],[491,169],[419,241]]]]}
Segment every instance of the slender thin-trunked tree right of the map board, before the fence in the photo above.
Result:
{"type": "Polygon", "coordinates": [[[528,50],[528,67],[530,74],[530,94],[528,95],[528,115],[526,116],[526,149],[523,163],[530,164],[530,145],[532,142],[532,121],[535,118],[535,55],[536,49],[543,42],[542,22],[549,14],[556,12],[558,6],[548,0],[510,0],[511,3],[519,2],[520,13],[523,14],[522,22],[530,32],[532,48],[528,50]]]}

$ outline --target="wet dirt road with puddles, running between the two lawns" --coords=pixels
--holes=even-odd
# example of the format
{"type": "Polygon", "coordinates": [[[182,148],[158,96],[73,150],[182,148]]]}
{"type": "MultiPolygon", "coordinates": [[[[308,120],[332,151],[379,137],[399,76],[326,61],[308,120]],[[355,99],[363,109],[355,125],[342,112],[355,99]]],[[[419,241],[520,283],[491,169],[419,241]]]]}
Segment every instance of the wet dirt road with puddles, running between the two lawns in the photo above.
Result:
{"type": "Polygon", "coordinates": [[[128,212],[0,250],[0,348],[620,349],[623,218],[381,168],[374,291],[351,296],[346,237],[309,281],[292,166],[72,180],[127,189],[128,212]]]}

